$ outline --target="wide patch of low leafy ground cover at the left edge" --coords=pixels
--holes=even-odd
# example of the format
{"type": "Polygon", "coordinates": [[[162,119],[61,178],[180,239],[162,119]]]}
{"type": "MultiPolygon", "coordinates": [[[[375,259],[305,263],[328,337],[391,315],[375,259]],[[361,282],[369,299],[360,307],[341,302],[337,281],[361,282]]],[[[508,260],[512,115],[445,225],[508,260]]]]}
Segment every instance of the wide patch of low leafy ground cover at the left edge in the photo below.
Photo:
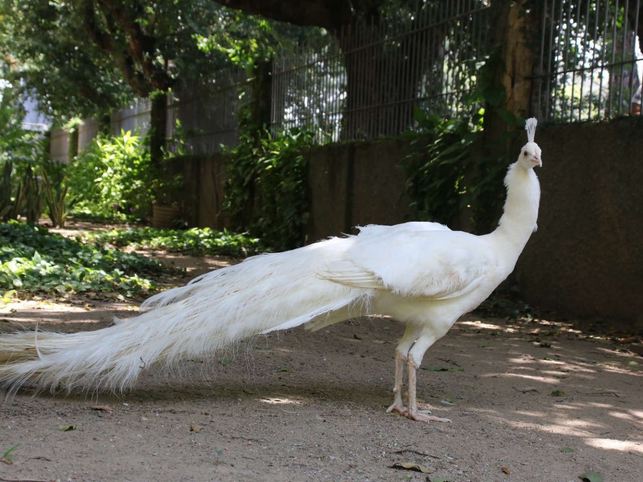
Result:
{"type": "Polygon", "coordinates": [[[117,292],[135,298],[157,287],[143,276],[167,271],[142,254],[71,240],[35,224],[0,224],[0,289],[59,295],[117,292]]]}

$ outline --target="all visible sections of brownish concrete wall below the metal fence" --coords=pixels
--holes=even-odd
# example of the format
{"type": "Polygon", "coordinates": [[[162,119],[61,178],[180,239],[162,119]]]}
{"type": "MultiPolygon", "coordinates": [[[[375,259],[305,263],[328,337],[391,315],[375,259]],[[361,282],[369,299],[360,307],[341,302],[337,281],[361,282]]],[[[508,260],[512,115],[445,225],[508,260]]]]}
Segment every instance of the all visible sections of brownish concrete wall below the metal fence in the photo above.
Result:
{"type": "MultiPolygon", "coordinates": [[[[643,118],[539,127],[536,141],[543,150],[539,228],[512,283],[534,306],[643,330],[643,118]]],[[[412,219],[397,168],[409,150],[399,139],[313,148],[307,242],[412,219]]],[[[217,217],[222,169],[221,156],[199,164],[189,188],[199,199],[197,226],[225,226],[217,217]]]]}

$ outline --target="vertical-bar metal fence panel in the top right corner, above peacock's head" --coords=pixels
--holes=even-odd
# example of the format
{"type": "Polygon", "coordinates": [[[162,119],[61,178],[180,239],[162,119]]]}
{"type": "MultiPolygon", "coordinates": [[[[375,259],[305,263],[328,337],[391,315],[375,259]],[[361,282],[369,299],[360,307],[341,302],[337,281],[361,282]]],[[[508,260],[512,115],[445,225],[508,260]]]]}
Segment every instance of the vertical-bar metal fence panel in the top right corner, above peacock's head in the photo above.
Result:
{"type": "Polygon", "coordinates": [[[543,0],[534,113],[546,121],[628,114],[640,85],[640,0],[543,0]]]}

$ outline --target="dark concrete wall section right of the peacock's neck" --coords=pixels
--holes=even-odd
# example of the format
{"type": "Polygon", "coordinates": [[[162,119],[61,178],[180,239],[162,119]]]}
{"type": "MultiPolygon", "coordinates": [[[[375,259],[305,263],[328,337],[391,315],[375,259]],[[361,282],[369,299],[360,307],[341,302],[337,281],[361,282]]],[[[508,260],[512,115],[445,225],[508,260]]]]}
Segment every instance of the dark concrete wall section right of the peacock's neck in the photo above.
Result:
{"type": "Polygon", "coordinates": [[[545,127],[536,141],[542,195],[514,272],[521,294],[643,329],[643,118],[545,127]]]}

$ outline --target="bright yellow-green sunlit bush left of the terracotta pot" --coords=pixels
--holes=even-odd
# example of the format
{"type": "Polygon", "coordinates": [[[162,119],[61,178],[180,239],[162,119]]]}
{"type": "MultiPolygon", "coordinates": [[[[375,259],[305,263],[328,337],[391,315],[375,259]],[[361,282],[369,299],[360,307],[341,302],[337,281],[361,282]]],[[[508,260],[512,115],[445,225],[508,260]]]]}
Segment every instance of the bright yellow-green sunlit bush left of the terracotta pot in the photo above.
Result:
{"type": "Polygon", "coordinates": [[[152,210],[149,150],[138,134],[101,135],[69,166],[74,211],[108,219],[144,219],[152,210]]]}

